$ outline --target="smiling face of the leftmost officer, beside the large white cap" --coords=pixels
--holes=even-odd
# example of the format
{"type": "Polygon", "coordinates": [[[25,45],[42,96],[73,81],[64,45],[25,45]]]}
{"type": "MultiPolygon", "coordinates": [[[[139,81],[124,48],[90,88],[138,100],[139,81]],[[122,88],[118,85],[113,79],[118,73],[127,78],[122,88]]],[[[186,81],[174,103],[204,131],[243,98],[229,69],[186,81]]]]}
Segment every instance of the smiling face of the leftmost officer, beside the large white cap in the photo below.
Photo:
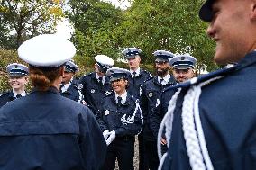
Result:
{"type": "Polygon", "coordinates": [[[28,83],[28,77],[27,76],[9,76],[8,83],[15,91],[24,90],[25,85],[28,83]]]}

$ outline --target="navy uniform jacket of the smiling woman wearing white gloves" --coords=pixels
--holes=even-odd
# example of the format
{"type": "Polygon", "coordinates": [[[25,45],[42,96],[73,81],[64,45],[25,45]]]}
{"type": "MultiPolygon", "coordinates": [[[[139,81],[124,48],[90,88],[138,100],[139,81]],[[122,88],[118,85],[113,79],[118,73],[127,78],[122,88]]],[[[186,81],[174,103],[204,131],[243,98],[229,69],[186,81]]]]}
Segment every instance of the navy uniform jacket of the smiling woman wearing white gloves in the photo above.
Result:
{"type": "Polygon", "coordinates": [[[98,121],[100,122],[102,130],[115,130],[116,137],[137,135],[142,130],[142,112],[137,109],[134,117],[133,113],[136,108],[136,100],[130,94],[127,94],[126,102],[122,103],[120,107],[117,107],[114,94],[105,97],[103,103],[103,109],[98,115],[98,121]],[[131,119],[130,122],[123,121],[131,119]],[[133,121],[132,121],[133,120],[133,121]]]}

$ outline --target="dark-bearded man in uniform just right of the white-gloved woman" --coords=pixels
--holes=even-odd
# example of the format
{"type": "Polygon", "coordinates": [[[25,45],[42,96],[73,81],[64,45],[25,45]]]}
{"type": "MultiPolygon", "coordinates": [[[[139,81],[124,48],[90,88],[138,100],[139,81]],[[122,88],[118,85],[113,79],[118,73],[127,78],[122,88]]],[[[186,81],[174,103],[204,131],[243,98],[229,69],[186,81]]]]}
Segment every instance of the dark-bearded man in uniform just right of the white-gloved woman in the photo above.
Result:
{"type": "Polygon", "coordinates": [[[144,119],[143,139],[145,147],[145,155],[149,159],[151,170],[155,170],[159,165],[159,158],[157,155],[157,139],[153,136],[150,128],[149,117],[151,110],[156,107],[156,100],[159,98],[160,92],[176,82],[169,74],[169,59],[174,57],[169,51],[157,50],[153,53],[155,56],[155,67],[157,76],[154,76],[144,85],[142,85],[141,106],[144,119]]]}

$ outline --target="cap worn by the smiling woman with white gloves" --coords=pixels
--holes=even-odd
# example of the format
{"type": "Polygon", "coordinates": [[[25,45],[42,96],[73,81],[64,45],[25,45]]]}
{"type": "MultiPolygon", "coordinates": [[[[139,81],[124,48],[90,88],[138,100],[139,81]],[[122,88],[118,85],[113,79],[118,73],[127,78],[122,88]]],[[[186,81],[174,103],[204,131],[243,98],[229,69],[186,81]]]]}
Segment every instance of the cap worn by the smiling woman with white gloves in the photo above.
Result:
{"type": "Polygon", "coordinates": [[[130,71],[120,67],[109,68],[106,72],[106,76],[110,76],[110,81],[118,80],[120,78],[125,78],[130,74],[130,71]]]}

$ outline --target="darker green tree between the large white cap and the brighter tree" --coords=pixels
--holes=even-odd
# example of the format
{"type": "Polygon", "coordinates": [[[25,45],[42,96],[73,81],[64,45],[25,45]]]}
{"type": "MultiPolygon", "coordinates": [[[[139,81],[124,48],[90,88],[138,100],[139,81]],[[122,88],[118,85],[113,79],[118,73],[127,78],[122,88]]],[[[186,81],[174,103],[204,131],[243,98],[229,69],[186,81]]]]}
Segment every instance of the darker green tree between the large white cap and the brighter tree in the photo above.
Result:
{"type": "Polygon", "coordinates": [[[94,57],[105,54],[115,58],[118,40],[114,29],[120,24],[122,11],[99,0],[69,0],[69,20],[74,23],[72,38],[78,55],[94,57]]]}

